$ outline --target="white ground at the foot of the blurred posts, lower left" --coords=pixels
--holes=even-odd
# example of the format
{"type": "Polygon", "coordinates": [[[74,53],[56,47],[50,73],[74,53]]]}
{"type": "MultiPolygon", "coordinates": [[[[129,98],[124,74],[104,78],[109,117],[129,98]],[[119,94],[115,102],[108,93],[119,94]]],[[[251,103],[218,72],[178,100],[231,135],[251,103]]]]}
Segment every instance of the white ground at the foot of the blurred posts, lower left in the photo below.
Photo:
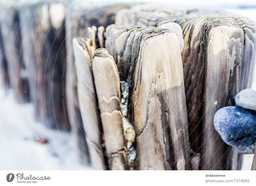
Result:
{"type": "Polygon", "coordinates": [[[71,133],[37,123],[33,109],[16,104],[10,90],[0,97],[0,170],[91,170],[77,157],[71,133]],[[48,143],[36,143],[34,136],[48,143]]]}

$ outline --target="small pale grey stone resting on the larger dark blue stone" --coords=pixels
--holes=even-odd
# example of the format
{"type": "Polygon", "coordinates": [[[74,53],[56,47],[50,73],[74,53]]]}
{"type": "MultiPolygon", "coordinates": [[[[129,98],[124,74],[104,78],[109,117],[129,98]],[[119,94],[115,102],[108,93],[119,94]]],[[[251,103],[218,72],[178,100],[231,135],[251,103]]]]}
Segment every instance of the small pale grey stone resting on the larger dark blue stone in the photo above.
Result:
{"type": "Polygon", "coordinates": [[[256,110],[256,91],[252,89],[244,89],[236,94],[235,101],[237,106],[256,110]]]}

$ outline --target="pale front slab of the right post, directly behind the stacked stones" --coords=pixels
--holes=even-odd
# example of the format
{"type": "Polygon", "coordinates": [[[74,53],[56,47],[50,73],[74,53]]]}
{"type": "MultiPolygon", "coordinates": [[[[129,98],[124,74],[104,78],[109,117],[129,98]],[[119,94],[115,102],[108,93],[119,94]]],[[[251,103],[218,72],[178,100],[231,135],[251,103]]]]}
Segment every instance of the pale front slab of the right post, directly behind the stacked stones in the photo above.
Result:
{"type": "Polygon", "coordinates": [[[228,147],[213,127],[214,113],[228,103],[230,72],[241,63],[244,32],[231,26],[214,27],[209,32],[206,56],[206,76],[201,169],[221,170],[228,162],[228,147]]]}

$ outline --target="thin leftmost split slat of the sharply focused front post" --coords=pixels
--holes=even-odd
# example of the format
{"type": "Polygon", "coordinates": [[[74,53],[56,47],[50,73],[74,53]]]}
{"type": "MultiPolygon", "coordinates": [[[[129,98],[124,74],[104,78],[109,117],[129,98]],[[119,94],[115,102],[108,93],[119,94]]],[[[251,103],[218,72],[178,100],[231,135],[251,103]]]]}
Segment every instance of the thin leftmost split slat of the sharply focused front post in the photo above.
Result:
{"type": "Polygon", "coordinates": [[[104,142],[102,125],[92,74],[92,46],[90,43],[91,40],[81,37],[73,39],[77,94],[92,166],[95,170],[106,170],[107,164],[102,148],[104,142]]]}

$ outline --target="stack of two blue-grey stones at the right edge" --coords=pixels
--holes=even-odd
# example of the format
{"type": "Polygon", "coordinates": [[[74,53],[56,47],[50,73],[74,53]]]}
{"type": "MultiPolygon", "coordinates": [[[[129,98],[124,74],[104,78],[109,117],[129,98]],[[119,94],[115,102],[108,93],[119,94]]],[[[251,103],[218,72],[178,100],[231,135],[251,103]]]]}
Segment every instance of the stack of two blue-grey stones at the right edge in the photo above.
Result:
{"type": "Polygon", "coordinates": [[[214,127],[222,140],[246,153],[253,153],[256,139],[256,91],[244,89],[236,97],[236,106],[219,109],[214,127]]]}

